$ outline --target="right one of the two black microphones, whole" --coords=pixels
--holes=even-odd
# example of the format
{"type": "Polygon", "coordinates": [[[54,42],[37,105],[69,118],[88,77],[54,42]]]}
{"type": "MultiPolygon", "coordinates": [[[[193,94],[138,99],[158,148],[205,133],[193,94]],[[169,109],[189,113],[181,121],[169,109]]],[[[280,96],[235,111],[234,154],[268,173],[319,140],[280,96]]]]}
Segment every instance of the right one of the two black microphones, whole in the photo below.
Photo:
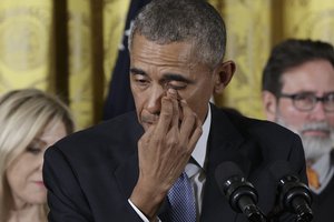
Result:
{"type": "Polygon", "coordinates": [[[277,161],[269,168],[271,174],[278,183],[278,200],[281,209],[296,214],[297,222],[311,222],[313,212],[312,193],[307,185],[292,172],[287,161],[277,161]]]}

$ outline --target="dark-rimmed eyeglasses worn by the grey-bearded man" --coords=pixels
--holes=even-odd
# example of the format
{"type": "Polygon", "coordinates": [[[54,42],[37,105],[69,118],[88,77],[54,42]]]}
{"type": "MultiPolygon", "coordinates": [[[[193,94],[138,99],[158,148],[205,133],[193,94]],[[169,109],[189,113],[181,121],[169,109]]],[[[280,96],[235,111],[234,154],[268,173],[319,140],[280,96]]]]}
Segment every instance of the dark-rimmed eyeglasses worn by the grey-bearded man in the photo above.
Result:
{"type": "Polygon", "coordinates": [[[281,93],[279,97],[292,99],[293,105],[299,111],[311,111],[317,102],[322,102],[326,112],[334,112],[334,92],[326,93],[324,97],[316,97],[308,92],[295,94],[281,93]]]}

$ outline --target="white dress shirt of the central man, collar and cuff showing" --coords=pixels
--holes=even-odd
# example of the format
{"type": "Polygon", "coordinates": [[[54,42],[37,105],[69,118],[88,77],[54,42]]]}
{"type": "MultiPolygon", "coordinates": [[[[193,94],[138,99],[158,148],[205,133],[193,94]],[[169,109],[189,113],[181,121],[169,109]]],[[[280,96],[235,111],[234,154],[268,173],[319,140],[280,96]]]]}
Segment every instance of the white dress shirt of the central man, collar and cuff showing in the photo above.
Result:
{"type": "MultiPolygon", "coordinates": [[[[206,151],[207,151],[207,140],[209,134],[209,129],[212,125],[212,110],[208,104],[208,114],[205,119],[205,122],[202,127],[203,133],[198,139],[196,147],[191,153],[191,159],[186,165],[186,173],[190,180],[193,185],[195,200],[196,200],[196,221],[199,221],[202,213],[202,202],[203,202],[203,188],[206,181],[205,175],[205,164],[206,164],[206,151]]],[[[149,222],[149,220],[141,213],[141,211],[130,201],[128,200],[134,210],[138,213],[138,215],[143,219],[144,222],[149,222]]],[[[158,221],[160,221],[158,219],[158,221]]]]}

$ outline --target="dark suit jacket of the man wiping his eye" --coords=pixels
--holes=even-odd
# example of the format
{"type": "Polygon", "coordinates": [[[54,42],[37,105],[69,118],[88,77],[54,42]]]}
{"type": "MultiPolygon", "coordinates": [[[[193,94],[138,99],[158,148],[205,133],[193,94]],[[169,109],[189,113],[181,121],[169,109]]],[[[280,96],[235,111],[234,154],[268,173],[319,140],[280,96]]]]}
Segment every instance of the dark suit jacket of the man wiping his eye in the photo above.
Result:
{"type": "MultiPolygon", "coordinates": [[[[138,179],[137,141],[144,133],[135,113],[124,114],[73,133],[45,155],[43,180],[48,188],[49,221],[140,222],[128,203],[138,179]]],[[[212,105],[212,127],[205,169],[204,222],[246,221],[220,194],[215,169],[234,161],[258,191],[258,205],[267,214],[275,204],[276,184],[267,167],[276,160],[292,162],[306,181],[299,138],[267,121],[247,119],[212,105]]],[[[160,211],[166,211],[165,201],[160,211]]],[[[279,221],[293,221],[284,214],[279,221]]]]}

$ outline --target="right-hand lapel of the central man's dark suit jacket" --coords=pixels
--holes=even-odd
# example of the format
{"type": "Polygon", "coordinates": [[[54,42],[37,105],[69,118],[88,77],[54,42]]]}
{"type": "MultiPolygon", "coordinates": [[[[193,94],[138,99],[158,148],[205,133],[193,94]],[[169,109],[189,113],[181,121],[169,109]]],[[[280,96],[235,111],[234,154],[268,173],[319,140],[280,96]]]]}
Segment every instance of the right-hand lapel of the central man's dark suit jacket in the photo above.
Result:
{"type": "Polygon", "coordinates": [[[247,175],[250,161],[240,150],[244,142],[243,135],[222,111],[212,105],[212,112],[213,121],[207,144],[206,184],[200,221],[235,221],[237,213],[230,209],[226,198],[219,192],[215,170],[222,162],[233,161],[247,175]]]}

